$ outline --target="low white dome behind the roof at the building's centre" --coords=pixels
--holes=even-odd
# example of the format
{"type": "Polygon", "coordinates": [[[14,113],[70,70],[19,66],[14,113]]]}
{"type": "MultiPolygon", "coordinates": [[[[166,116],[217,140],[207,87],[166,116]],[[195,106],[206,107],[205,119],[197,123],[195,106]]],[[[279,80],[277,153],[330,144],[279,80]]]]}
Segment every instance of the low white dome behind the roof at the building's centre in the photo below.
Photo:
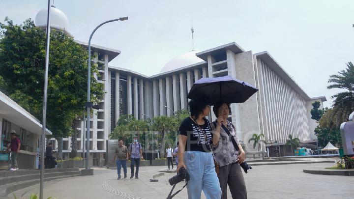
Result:
{"type": "Polygon", "coordinates": [[[195,55],[196,53],[198,53],[198,51],[190,51],[172,58],[169,62],[165,64],[165,66],[161,69],[160,73],[164,73],[167,71],[175,70],[184,66],[189,66],[204,61],[203,59],[197,57],[195,55]]]}

